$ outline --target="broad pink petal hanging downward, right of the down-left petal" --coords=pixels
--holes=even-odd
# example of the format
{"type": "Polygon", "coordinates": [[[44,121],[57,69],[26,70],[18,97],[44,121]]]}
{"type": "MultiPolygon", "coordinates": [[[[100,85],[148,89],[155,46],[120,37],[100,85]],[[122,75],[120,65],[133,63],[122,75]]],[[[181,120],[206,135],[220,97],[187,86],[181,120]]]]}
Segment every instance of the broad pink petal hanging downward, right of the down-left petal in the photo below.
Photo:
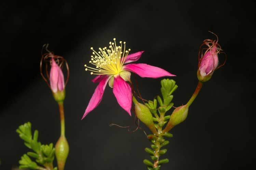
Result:
{"type": "Polygon", "coordinates": [[[113,93],[118,104],[131,116],[132,89],[120,76],[114,78],[113,93]]]}

